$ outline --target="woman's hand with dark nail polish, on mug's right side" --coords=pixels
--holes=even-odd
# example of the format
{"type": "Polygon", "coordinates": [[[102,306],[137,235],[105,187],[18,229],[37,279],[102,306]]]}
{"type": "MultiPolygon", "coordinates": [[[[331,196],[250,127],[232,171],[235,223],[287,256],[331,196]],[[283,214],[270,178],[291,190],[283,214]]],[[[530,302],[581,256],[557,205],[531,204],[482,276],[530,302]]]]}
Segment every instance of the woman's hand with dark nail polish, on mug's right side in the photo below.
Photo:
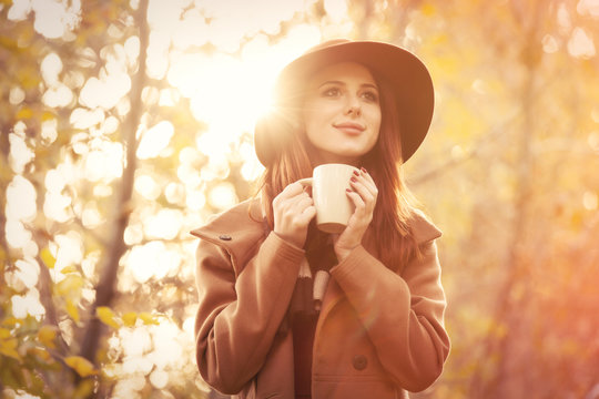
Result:
{"type": "Polygon", "coordinates": [[[365,168],[354,172],[349,181],[349,186],[352,190],[348,190],[346,194],[356,208],[343,233],[333,235],[335,254],[339,262],[345,259],[354,248],[362,244],[364,233],[366,233],[368,225],[373,221],[376,198],[378,196],[376,184],[365,168]]]}

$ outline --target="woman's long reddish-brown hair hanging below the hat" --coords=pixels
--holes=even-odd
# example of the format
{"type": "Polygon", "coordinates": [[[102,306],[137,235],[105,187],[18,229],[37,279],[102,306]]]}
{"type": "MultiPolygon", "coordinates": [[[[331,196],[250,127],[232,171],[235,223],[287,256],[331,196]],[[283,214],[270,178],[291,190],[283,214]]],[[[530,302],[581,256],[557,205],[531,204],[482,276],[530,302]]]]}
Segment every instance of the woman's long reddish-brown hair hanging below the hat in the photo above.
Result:
{"type": "MultiPolygon", "coordinates": [[[[406,187],[402,170],[400,122],[395,98],[387,84],[377,79],[380,102],[380,132],[378,140],[363,157],[363,166],[373,176],[378,188],[377,204],[370,223],[378,256],[383,264],[398,269],[413,256],[419,256],[417,244],[408,221],[413,217],[417,202],[406,187]]],[[[294,99],[303,95],[294,95],[294,99]]],[[[277,129],[284,142],[280,156],[268,165],[262,176],[260,190],[266,221],[274,228],[273,200],[288,184],[312,175],[309,157],[312,144],[308,142],[303,123],[300,122],[301,102],[278,109],[268,129],[277,129]],[[283,116],[284,115],[284,116],[283,116]]]]}

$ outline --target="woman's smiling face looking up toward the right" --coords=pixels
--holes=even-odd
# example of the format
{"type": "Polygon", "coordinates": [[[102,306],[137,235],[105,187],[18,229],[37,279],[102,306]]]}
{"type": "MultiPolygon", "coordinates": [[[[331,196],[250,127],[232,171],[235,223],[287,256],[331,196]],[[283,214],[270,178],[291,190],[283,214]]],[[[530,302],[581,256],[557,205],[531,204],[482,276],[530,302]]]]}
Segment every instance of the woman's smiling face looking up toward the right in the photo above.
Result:
{"type": "Polygon", "coordinates": [[[315,164],[358,166],[380,131],[378,86],[355,62],[325,66],[307,82],[302,116],[315,164]]]}

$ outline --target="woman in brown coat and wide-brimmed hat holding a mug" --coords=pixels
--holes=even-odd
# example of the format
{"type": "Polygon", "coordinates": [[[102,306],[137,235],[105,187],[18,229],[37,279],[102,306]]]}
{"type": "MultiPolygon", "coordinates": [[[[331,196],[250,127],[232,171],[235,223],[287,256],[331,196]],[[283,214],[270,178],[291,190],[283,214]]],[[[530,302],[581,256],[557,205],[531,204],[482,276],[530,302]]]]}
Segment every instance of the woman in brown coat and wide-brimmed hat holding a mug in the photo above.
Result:
{"type": "Polygon", "coordinates": [[[399,167],[428,131],[433,95],[422,62],[387,43],[325,42],[283,70],[276,112],[255,131],[261,198],[192,232],[209,385],[241,398],[407,398],[440,375],[440,232],[399,167]],[[323,163],[359,168],[341,234],[314,227],[297,183],[323,163]]]}

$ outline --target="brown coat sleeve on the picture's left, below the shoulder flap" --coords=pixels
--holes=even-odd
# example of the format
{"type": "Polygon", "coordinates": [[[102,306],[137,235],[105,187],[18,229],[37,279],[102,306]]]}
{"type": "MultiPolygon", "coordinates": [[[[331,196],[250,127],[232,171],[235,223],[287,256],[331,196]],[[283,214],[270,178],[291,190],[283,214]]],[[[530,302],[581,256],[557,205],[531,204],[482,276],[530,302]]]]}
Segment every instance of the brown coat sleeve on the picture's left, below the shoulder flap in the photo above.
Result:
{"type": "Polygon", "coordinates": [[[234,395],[261,369],[285,316],[303,257],[302,249],[271,233],[235,276],[224,247],[200,242],[196,360],[210,386],[234,395]]]}

